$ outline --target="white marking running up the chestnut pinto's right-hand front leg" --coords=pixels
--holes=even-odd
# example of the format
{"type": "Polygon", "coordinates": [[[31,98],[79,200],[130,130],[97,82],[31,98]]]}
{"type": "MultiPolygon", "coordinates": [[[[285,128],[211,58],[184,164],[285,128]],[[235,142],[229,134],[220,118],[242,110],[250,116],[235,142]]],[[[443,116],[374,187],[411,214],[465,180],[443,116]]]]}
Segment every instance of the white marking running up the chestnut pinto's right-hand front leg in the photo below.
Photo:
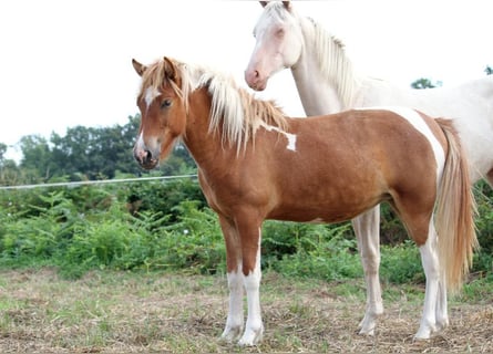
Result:
{"type": "Polygon", "coordinates": [[[264,324],[260,312],[260,240],[261,230],[258,230],[257,257],[254,270],[244,277],[245,290],[248,302],[248,317],[245,326],[245,333],[239,340],[239,345],[256,345],[261,341],[264,334],[264,324]]]}

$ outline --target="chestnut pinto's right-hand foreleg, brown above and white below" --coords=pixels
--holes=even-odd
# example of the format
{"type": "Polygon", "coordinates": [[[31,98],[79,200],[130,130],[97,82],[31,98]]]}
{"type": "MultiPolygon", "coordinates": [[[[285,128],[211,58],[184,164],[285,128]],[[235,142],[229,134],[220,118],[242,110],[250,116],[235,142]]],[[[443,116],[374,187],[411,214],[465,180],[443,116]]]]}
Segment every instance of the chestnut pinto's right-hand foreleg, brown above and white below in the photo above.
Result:
{"type": "MultiPolygon", "coordinates": [[[[242,230],[242,228],[239,228],[242,230]]],[[[240,231],[242,232],[242,231],[240,231]]],[[[242,238],[244,284],[247,293],[248,316],[239,345],[255,345],[261,341],[264,324],[260,312],[260,240],[261,229],[245,231],[242,238]]]]}

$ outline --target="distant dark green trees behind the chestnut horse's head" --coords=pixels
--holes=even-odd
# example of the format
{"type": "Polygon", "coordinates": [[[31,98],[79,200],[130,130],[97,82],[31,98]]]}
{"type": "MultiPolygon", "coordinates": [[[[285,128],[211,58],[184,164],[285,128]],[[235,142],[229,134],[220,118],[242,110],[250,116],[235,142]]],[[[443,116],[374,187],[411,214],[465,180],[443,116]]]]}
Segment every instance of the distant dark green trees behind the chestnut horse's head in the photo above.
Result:
{"type": "MultiPolygon", "coordinates": [[[[146,171],[132,155],[140,121],[140,115],[135,115],[129,116],[129,123],[123,126],[75,126],[69,128],[65,136],[52,133],[50,142],[35,135],[22,137],[20,147],[23,158],[20,167],[30,176],[28,183],[52,178],[111,179],[117,173],[141,176],[146,171]]],[[[6,149],[7,146],[0,145],[0,157],[6,149]]],[[[175,146],[161,169],[161,174],[165,175],[195,171],[195,163],[182,144],[175,146]]]]}

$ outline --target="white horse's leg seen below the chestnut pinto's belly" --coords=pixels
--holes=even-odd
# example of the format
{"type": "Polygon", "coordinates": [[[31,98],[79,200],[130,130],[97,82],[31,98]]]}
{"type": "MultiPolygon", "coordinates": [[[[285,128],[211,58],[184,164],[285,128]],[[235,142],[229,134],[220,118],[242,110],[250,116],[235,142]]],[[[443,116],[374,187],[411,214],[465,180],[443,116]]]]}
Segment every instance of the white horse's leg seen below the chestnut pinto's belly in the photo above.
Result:
{"type": "Polygon", "coordinates": [[[380,267],[380,206],[352,219],[367,284],[367,310],[359,327],[360,334],[373,335],[377,319],[383,313],[379,279],[380,267]]]}

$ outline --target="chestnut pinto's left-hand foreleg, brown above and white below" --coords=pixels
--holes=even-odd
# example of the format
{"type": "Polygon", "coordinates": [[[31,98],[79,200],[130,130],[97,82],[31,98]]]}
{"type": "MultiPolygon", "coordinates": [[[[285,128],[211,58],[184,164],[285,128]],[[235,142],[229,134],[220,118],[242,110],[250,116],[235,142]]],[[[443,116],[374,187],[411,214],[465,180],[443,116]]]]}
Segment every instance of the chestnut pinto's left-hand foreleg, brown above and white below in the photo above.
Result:
{"type": "Polygon", "coordinates": [[[237,341],[243,332],[243,272],[238,232],[233,222],[219,216],[219,223],[226,243],[227,282],[229,289],[229,309],[226,326],[220,339],[227,342],[237,341]]]}

